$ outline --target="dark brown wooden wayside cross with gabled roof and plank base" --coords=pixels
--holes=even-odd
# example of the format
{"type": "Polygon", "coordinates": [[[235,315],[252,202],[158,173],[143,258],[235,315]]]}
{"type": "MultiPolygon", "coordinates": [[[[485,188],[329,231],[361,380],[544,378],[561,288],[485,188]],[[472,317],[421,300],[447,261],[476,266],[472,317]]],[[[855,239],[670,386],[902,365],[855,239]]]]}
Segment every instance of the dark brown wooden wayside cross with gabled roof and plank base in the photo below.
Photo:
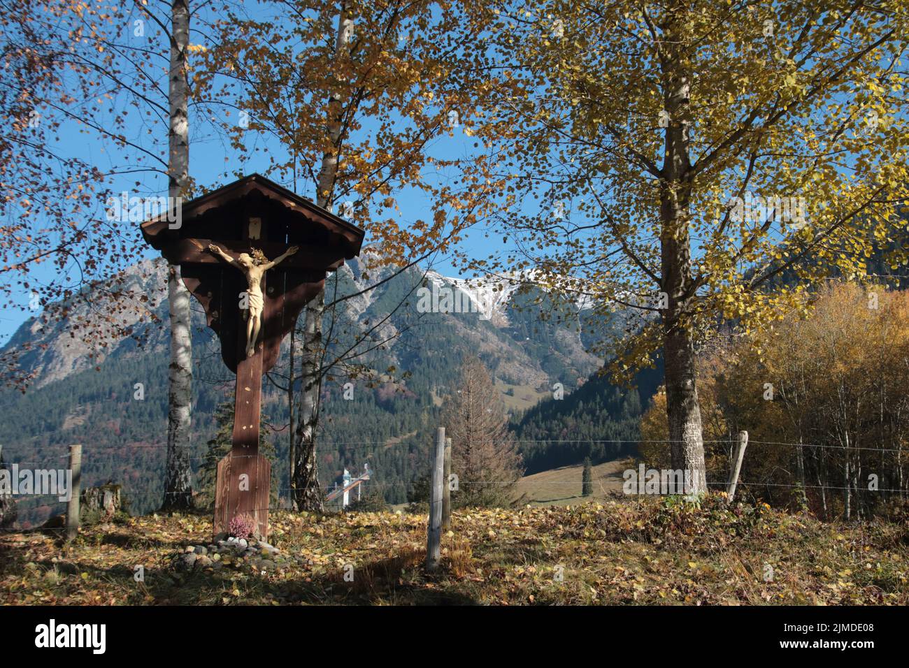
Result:
{"type": "Polygon", "coordinates": [[[364,232],[251,174],[184,204],[175,223],[166,215],[146,221],[142,234],[170,264],[180,265],[186,288],[221,341],[222,359],[236,374],[232,448],[217,468],[215,535],[249,514],[265,537],[271,464],[258,452],[262,374],[275,365],[285,335],[325,285],[325,273],[359,254],[364,232]],[[245,267],[254,255],[280,262],[262,275],[260,331],[250,342],[247,319],[259,304],[245,267]]]}

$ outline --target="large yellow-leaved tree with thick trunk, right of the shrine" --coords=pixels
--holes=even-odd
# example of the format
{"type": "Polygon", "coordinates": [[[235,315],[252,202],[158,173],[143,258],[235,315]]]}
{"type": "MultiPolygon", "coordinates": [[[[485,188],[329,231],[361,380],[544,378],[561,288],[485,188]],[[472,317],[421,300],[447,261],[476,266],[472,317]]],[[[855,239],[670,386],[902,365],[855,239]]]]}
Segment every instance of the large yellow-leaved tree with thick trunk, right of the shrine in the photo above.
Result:
{"type": "MultiPolygon", "coordinates": [[[[478,268],[642,314],[616,374],[665,363],[672,465],[705,491],[695,348],[805,307],[806,288],[861,275],[905,233],[902,2],[662,0],[472,5],[516,90],[514,245],[478,268]],[[793,284],[774,277],[793,274],[793,284]]],[[[484,135],[481,135],[484,136],[484,135]]],[[[891,262],[904,261],[894,254],[891,262]]]]}

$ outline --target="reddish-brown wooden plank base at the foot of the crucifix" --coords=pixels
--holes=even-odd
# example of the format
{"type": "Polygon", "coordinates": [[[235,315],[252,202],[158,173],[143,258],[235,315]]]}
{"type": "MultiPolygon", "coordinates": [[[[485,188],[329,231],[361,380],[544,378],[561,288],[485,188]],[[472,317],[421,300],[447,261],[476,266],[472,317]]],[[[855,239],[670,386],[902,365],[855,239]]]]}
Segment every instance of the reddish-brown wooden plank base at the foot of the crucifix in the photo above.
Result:
{"type": "Polygon", "coordinates": [[[230,521],[249,514],[256,535],[268,540],[268,501],[272,464],[263,454],[244,454],[235,448],[218,462],[215,484],[215,536],[227,533],[230,521]]]}

